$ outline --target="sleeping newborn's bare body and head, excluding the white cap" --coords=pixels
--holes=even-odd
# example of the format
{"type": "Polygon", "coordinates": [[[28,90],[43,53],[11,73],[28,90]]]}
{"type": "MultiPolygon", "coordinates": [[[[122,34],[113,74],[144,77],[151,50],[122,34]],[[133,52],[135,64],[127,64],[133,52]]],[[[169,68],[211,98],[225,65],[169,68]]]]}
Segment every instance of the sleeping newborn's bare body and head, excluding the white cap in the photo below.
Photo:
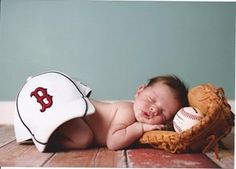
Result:
{"type": "Polygon", "coordinates": [[[84,149],[92,145],[123,149],[144,132],[162,129],[176,112],[188,105],[188,89],[176,76],[158,76],[141,85],[134,102],[101,102],[90,99],[95,113],[61,125],[47,149],[84,149]]]}

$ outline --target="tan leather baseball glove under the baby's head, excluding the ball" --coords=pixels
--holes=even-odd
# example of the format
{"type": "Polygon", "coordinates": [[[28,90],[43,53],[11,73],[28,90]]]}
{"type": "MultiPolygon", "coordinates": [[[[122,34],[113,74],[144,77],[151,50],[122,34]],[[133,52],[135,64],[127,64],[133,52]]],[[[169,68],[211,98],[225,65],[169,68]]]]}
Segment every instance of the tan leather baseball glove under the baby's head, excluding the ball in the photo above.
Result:
{"type": "MultiPolygon", "coordinates": [[[[188,92],[189,105],[203,113],[199,123],[183,132],[154,130],[144,133],[139,143],[150,144],[171,153],[207,152],[218,147],[218,142],[234,126],[234,114],[222,88],[202,84],[188,92]]],[[[216,149],[215,149],[216,150],[216,149]]]]}

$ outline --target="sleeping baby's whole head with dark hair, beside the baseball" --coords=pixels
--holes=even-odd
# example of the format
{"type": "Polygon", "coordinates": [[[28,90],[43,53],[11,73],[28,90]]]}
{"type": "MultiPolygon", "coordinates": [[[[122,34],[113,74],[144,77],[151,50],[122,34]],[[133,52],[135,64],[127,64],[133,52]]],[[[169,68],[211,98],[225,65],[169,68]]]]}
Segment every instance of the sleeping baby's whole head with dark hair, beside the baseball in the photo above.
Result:
{"type": "Polygon", "coordinates": [[[188,89],[174,75],[151,78],[141,85],[134,101],[137,121],[148,124],[166,124],[181,107],[188,105],[188,89]]]}

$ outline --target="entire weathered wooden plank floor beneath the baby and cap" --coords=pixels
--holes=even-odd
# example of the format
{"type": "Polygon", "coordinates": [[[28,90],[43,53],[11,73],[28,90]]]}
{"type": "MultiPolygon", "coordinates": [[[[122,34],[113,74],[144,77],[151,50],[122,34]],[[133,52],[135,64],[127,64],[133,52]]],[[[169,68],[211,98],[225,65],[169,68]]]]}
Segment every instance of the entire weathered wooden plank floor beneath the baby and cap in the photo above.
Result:
{"type": "MultiPolygon", "coordinates": [[[[229,139],[232,138],[229,137],[229,139]]],[[[233,141],[232,144],[234,144],[233,141]]],[[[201,153],[171,154],[150,147],[133,147],[120,151],[91,148],[68,152],[40,153],[33,144],[18,145],[12,126],[0,126],[0,166],[2,167],[234,168],[233,149],[222,150],[222,152],[223,154],[220,154],[221,160],[215,162],[213,153],[208,153],[208,155],[201,153]],[[231,158],[227,164],[223,157],[225,154],[227,160],[229,157],[231,158]]]]}

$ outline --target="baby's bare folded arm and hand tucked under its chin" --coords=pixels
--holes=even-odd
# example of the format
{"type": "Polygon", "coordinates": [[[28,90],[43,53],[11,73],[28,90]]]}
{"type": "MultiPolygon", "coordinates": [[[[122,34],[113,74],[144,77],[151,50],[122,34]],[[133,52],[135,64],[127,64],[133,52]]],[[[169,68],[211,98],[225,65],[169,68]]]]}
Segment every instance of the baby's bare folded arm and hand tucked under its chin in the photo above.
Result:
{"type": "Polygon", "coordinates": [[[107,136],[107,147],[111,150],[125,148],[140,138],[144,132],[161,129],[162,125],[134,122],[131,125],[117,123],[111,125],[107,136]]]}

